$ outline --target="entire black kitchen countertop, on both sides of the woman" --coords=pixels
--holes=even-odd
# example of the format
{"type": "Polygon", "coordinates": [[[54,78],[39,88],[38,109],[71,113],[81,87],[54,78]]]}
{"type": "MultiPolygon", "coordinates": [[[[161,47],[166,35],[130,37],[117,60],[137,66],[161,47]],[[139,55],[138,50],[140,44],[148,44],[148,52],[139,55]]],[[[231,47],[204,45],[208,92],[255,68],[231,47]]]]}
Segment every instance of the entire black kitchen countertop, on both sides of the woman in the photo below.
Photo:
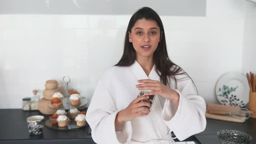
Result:
{"type": "MultiPolygon", "coordinates": [[[[56,131],[43,127],[43,134],[30,135],[26,118],[32,115],[42,115],[39,111],[22,111],[21,109],[0,109],[0,144],[95,144],[88,128],[83,127],[71,131],[56,131]]],[[[49,116],[44,115],[45,120],[49,116]]],[[[205,131],[187,138],[185,141],[196,141],[198,144],[219,144],[216,132],[221,129],[244,131],[253,137],[251,144],[256,144],[256,118],[249,118],[245,123],[218,121],[207,119],[205,131]]],[[[175,141],[178,141],[177,139],[175,141]]]]}

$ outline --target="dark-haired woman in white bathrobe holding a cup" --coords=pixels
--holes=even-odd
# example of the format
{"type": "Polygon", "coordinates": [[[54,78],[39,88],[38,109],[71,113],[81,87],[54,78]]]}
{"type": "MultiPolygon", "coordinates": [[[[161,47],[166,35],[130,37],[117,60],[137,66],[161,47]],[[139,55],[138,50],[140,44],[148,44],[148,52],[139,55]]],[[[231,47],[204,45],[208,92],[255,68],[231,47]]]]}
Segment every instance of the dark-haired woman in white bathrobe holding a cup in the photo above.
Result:
{"type": "Polygon", "coordinates": [[[182,141],[205,129],[205,110],[194,82],[168,58],[160,17],[141,8],[128,24],[121,60],[104,73],[92,97],[86,120],[93,140],[174,144],[171,131],[182,141]],[[142,90],[151,91],[137,98],[142,90]],[[156,95],[152,105],[140,102],[148,95],[156,95]]]}

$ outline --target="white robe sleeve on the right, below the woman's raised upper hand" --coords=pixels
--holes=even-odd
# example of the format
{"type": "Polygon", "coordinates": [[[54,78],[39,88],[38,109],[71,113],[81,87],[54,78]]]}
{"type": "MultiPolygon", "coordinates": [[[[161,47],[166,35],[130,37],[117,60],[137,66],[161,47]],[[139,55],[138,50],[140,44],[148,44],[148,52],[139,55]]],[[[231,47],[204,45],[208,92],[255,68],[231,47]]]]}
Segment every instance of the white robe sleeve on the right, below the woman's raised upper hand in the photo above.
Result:
{"type": "Polygon", "coordinates": [[[180,141],[200,133],[206,128],[205,101],[197,95],[191,79],[184,82],[181,91],[175,89],[180,95],[178,108],[172,101],[166,100],[162,111],[164,123],[180,141]]]}

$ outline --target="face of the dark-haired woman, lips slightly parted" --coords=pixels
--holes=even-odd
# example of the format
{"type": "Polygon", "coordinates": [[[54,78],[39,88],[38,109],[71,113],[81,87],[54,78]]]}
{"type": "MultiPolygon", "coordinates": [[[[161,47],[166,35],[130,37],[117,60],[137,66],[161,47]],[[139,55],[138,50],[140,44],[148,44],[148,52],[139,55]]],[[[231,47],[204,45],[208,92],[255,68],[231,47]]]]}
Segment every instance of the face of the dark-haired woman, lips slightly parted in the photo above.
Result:
{"type": "Polygon", "coordinates": [[[160,28],[154,20],[137,20],[129,33],[136,57],[152,57],[160,42],[160,28]]]}

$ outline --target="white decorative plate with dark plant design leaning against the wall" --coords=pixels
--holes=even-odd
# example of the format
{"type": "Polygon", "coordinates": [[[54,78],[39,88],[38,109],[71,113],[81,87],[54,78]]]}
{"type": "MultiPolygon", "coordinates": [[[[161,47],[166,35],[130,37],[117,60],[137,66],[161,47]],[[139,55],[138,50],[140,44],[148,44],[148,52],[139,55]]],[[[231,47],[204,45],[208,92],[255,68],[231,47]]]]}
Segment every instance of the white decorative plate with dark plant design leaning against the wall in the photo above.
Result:
{"type": "Polygon", "coordinates": [[[245,75],[228,72],[220,77],[215,95],[222,105],[243,107],[249,102],[249,84],[245,75]]]}

